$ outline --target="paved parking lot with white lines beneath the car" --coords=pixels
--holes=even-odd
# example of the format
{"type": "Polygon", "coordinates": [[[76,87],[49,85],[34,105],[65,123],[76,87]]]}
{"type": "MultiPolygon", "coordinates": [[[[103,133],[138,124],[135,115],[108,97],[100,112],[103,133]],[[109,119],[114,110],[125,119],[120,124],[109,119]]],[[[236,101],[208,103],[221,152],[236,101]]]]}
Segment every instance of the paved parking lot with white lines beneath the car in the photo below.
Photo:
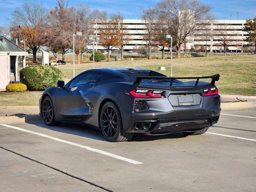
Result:
{"type": "Polygon", "coordinates": [[[255,192],[256,107],[199,136],[107,142],[77,124],[0,125],[0,191],[255,192]]]}

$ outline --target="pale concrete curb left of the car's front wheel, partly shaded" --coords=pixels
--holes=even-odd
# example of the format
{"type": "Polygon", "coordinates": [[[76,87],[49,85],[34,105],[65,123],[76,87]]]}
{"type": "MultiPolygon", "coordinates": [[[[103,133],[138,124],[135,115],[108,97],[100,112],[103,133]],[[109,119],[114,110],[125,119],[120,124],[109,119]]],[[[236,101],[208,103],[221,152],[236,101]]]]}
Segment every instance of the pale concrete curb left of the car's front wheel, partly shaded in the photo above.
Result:
{"type": "Polygon", "coordinates": [[[24,116],[0,116],[0,124],[20,124],[36,121],[42,121],[42,118],[39,114],[24,116]]]}

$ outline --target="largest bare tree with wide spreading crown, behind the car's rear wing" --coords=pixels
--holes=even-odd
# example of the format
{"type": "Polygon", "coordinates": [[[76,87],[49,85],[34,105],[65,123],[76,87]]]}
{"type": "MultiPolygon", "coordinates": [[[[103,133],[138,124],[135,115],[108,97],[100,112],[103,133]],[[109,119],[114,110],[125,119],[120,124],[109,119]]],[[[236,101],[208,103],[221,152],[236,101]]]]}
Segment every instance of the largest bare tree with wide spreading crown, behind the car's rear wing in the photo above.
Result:
{"type": "Polygon", "coordinates": [[[166,22],[169,34],[176,44],[177,58],[180,58],[182,44],[190,42],[188,36],[204,28],[212,16],[210,6],[201,4],[200,0],[161,0],[156,6],[158,18],[166,22]]]}

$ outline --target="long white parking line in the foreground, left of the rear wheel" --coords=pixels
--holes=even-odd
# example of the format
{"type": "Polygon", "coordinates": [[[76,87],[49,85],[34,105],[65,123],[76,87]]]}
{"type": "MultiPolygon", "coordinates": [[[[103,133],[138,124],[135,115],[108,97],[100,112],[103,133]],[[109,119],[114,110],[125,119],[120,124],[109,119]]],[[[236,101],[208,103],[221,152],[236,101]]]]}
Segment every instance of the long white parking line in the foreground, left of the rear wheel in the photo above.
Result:
{"type": "Polygon", "coordinates": [[[118,155],[115,155],[115,154],[112,154],[112,153],[108,153],[108,152],[105,152],[105,151],[102,151],[102,150],[91,148],[89,146],[85,146],[85,145],[73,143],[73,142],[70,142],[70,141],[62,140],[62,139],[59,139],[59,138],[56,138],[56,137],[52,137],[52,136],[49,136],[49,135],[45,135],[45,134],[42,134],[42,133],[38,133],[38,132],[34,132],[34,131],[30,131],[30,130],[19,128],[19,127],[15,127],[15,126],[11,126],[11,125],[6,125],[6,124],[0,124],[0,125],[1,126],[5,126],[5,127],[9,127],[9,128],[13,128],[13,129],[16,129],[16,130],[32,133],[32,134],[39,135],[39,136],[42,136],[42,137],[46,137],[46,138],[49,138],[49,139],[52,139],[52,140],[55,140],[55,141],[59,141],[59,142],[66,143],[66,144],[70,144],[70,145],[77,146],[77,147],[80,147],[80,148],[85,148],[87,150],[90,150],[90,151],[93,151],[93,152],[96,152],[96,153],[100,153],[100,154],[104,154],[106,156],[110,156],[110,157],[113,157],[113,158],[116,158],[116,159],[119,159],[119,160],[123,160],[123,161],[129,162],[129,163],[132,163],[132,164],[143,164],[142,162],[134,161],[134,160],[122,157],[122,156],[118,156],[118,155]]]}

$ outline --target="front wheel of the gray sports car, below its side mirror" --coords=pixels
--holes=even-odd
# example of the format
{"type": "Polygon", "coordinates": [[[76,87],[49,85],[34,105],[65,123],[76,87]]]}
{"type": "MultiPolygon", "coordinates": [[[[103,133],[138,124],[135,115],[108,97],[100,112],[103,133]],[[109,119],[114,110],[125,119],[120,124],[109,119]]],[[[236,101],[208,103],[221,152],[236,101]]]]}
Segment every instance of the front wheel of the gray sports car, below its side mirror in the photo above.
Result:
{"type": "Polygon", "coordinates": [[[46,96],[42,102],[41,114],[46,125],[54,126],[61,124],[61,122],[55,120],[54,106],[49,96],[46,96]]]}

